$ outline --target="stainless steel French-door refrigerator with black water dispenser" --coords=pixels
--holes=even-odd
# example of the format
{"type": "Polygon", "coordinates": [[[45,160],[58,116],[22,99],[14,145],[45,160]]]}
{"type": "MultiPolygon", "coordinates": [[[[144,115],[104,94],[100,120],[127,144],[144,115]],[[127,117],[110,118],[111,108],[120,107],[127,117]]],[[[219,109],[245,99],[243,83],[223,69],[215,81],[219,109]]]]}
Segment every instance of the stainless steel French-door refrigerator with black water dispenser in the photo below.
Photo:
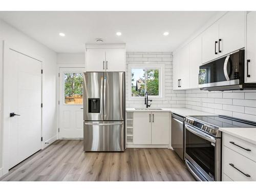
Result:
{"type": "Polygon", "coordinates": [[[124,72],[83,74],[84,151],[124,151],[124,72]]]}

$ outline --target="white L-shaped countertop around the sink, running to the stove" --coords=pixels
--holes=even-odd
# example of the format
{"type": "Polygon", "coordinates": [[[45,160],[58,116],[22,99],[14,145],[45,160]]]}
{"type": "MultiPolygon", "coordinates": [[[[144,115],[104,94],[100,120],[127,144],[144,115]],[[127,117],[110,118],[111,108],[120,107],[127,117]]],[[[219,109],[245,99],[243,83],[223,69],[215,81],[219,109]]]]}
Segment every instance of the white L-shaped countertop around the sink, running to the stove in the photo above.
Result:
{"type": "Polygon", "coordinates": [[[126,112],[172,112],[181,116],[201,116],[201,115],[215,116],[216,115],[212,113],[191,110],[188,108],[161,108],[161,110],[154,110],[154,109],[153,110],[137,110],[135,108],[126,108],[126,112]]]}

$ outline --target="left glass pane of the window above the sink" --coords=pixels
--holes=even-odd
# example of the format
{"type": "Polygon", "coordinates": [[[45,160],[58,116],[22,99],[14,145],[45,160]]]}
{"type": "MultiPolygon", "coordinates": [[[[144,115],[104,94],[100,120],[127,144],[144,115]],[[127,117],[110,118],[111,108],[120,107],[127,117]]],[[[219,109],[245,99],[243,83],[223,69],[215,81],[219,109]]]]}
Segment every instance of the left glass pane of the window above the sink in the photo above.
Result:
{"type": "Polygon", "coordinates": [[[132,68],[132,97],[144,97],[145,70],[132,68]]]}

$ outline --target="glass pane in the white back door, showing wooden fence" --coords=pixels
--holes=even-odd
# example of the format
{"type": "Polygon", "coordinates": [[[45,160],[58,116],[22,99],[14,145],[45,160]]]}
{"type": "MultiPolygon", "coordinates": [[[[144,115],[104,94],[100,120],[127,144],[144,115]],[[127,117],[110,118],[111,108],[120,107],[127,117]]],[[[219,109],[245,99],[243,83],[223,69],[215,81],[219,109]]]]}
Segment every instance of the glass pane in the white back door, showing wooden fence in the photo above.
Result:
{"type": "Polygon", "coordinates": [[[82,73],[65,73],[65,104],[82,104],[82,73]]]}

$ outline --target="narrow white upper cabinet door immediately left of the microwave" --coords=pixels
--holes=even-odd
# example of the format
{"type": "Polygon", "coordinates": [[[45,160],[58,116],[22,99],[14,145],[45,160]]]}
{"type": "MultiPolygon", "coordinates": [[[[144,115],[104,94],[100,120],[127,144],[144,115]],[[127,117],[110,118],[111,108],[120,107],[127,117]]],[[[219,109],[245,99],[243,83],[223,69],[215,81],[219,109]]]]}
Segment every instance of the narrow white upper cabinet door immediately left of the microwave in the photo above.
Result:
{"type": "Polygon", "coordinates": [[[202,65],[202,37],[198,36],[189,44],[189,88],[199,88],[199,66],[202,65]]]}

